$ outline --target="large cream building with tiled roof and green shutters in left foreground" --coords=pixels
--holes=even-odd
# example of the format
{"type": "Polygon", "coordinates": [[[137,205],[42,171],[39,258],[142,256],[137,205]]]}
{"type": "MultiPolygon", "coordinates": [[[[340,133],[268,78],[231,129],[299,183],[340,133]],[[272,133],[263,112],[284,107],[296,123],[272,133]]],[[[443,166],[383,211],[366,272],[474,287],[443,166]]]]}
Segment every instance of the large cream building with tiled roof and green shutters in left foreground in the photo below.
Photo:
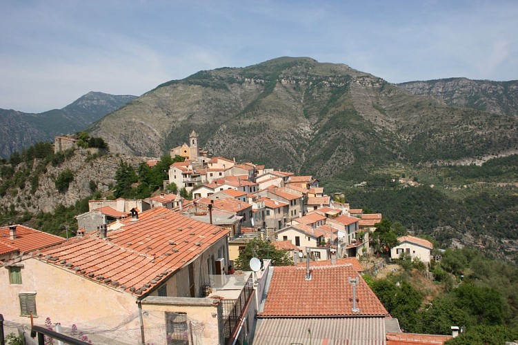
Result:
{"type": "Polygon", "coordinates": [[[248,315],[255,293],[250,275],[225,275],[227,234],[157,207],[118,230],[21,253],[0,266],[3,316],[28,324],[32,313],[37,325],[50,317],[129,344],[231,342],[240,324],[230,315],[248,315]],[[19,280],[9,267],[20,268],[19,280]]]}

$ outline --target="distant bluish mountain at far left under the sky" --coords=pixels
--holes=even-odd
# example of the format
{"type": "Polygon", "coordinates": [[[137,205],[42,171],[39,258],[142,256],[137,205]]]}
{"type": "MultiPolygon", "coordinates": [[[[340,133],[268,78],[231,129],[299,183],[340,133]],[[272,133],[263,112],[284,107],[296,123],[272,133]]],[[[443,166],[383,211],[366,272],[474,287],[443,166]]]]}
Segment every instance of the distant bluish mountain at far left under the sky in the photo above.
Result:
{"type": "Polygon", "coordinates": [[[0,157],[9,157],[12,152],[39,141],[53,140],[57,135],[83,130],[135,98],[88,92],[65,108],[40,114],[0,109],[0,157]]]}

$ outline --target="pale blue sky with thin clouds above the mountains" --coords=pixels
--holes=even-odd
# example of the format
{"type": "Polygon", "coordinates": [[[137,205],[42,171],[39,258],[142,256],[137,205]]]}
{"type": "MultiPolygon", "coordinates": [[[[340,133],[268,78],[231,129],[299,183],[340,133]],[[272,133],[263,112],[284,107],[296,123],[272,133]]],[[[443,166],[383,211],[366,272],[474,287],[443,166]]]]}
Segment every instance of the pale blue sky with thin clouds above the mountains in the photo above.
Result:
{"type": "Polygon", "coordinates": [[[515,80],[518,1],[0,1],[3,109],[44,112],[90,91],[139,96],[283,56],[390,83],[515,80]]]}

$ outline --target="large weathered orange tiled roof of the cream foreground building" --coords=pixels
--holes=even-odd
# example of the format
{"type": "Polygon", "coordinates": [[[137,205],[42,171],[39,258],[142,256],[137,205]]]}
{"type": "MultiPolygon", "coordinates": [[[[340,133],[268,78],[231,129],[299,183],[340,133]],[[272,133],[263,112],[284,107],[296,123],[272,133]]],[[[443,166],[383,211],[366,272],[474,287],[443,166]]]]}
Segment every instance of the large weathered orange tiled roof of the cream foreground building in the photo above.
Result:
{"type": "Polygon", "coordinates": [[[108,239],[91,234],[41,249],[37,259],[93,282],[143,295],[225,237],[228,230],[157,207],[143,212],[138,221],[108,232],[108,239]]]}

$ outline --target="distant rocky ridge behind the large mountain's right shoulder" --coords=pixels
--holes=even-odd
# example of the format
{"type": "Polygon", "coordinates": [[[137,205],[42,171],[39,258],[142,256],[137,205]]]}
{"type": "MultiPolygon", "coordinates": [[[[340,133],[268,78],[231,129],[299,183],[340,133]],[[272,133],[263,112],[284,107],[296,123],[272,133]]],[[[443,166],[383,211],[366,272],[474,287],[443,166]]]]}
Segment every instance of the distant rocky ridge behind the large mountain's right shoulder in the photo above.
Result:
{"type": "Polygon", "coordinates": [[[466,78],[408,81],[398,84],[412,95],[434,96],[448,106],[473,108],[500,115],[518,115],[518,80],[489,81],[466,78]]]}

